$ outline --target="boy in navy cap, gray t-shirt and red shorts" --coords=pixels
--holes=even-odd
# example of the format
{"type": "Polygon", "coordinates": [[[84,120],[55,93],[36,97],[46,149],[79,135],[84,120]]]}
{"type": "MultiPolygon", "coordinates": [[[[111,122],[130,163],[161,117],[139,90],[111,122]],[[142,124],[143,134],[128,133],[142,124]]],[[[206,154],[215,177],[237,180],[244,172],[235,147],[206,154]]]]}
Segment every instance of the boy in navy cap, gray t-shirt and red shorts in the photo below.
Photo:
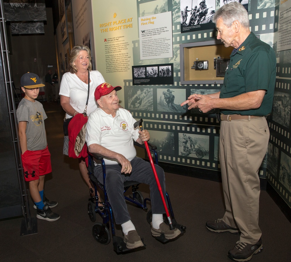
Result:
{"type": "Polygon", "coordinates": [[[52,172],[50,153],[47,147],[44,120],[47,118],[42,104],[35,99],[40,83],[36,74],[26,73],[21,77],[21,89],[25,96],[17,108],[17,121],[24,179],[29,181],[31,197],[37,209],[36,217],[47,221],[56,221],[60,215],[50,207],[58,205],[49,201],[44,193],[45,174],[52,172]]]}

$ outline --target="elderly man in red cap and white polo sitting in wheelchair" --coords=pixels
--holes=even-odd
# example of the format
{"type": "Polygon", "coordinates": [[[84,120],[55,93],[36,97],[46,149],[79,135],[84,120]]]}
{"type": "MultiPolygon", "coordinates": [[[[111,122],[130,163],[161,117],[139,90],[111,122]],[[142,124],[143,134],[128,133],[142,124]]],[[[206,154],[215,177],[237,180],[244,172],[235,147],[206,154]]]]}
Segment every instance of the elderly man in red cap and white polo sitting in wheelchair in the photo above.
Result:
{"type": "MultiPolygon", "coordinates": [[[[152,205],[151,233],[154,237],[164,234],[166,239],[177,237],[181,231],[170,229],[163,220],[165,208],[150,163],[136,157],[133,140],[139,144],[150,139],[147,130],[134,128],[136,120],[126,109],[119,108],[117,91],[108,83],[97,86],[95,99],[98,109],[90,114],[87,122],[86,142],[90,153],[100,153],[106,164],[105,187],[116,224],[122,227],[124,242],[128,249],[143,246],[129,216],[123,196],[125,181],[139,181],[150,186],[152,205]]],[[[164,170],[155,165],[165,195],[164,170]]],[[[94,176],[103,184],[102,166],[95,164],[94,176]]]]}

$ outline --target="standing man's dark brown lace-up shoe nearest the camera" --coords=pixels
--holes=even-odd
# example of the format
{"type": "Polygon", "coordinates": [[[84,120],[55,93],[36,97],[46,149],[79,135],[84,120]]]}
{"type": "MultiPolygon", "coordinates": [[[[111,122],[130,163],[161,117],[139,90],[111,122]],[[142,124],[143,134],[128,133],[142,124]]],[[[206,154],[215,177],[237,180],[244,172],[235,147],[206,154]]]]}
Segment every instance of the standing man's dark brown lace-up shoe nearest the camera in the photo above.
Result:
{"type": "Polygon", "coordinates": [[[258,254],[262,250],[263,245],[261,239],[256,244],[237,241],[234,248],[228,251],[228,257],[234,261],[249,261],[254,254],[258,254]]]}

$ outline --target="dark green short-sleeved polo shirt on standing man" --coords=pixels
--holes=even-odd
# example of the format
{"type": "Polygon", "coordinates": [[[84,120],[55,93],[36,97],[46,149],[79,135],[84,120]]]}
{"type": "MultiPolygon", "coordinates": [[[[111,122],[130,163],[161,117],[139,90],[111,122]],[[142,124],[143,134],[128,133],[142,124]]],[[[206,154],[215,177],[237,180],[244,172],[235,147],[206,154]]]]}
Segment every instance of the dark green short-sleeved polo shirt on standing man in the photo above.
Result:
{"type": "Polygon", "coordinates": [[[266,90],[262,104],[257,109],[230,111],[221,109],[223,114],[243,116],[265,116],[272,111],[276,81],[276,55],[268,44],[259,40],[253,32],[230,55],[219,98],[266,90]]]}

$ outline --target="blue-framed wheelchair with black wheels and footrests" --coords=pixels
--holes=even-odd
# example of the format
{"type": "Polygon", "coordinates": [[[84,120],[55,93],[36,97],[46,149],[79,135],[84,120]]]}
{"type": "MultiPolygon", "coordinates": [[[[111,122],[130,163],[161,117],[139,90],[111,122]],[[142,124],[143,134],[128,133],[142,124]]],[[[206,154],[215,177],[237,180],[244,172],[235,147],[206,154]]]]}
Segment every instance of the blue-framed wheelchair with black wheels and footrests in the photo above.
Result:
{"type": "MultiPolygon", "coordinates": [[[[142,147],[145,149],[145,145],[141,145],[137,142],[134,142],[134,145],[142,147]]],[[[148,146],[150,148],[150,151],[153,152],[155,163],[158,164],[158,157],[157,157],[157,151],[156,151],[157,147],[153,144],[150,144],[150,143],[148,143],[148,146]]],[[[101,154],[98,154],[98,153],[93,154],[93,153],[89,153],[89,151],[87,151],[87,152],[88,152],[88,168],[87,168],[88,175],[89,175],[91,182],[94,186],[94,191],[93,191],[93,189],[91,191],[93,197],[88,199],[88,201],[89,201],[88,202],[88,215],[89,215],[89,218],[92,222],[96,221],[96,214],[99,214],[102,218],[102,223],[99,223],[99,222],[95,223],[92,227],[93,237],[95,238],[95,240],[97,242],[106,245],[106,244],[109,244],[109,242],[111,241],[111,235],[112,235],[113,249],[116,253],[136,250],[136,249],[128,249],[126,247],[125,242],[123,241],[123,238],[115,235],[113,212],[112,212],[110,203],[108,201],[106,188],[104,186],[105,185],[105,177],[106,177],[106,167],[105,167],[105,162],[104,162],[103,156],[101,154]],[[102,170],[103,170],[103,185],[94,176],[95,165],[94,165],[93,158],[101,161],[102,170]],[[98,199],[97,187],[101,188],[102,191],[104,192],[104,202],[100,202],[98,199]],[[101,206],[99,204],[101,204],[101,206]],[[111,227],[112,234],[110,234],[110,231],[109,231],[110,227],[111,227]]],[[[125,181],[123,193],[127,192],[127,190],[129,190],[129,188],[131,188],[132,195],[129,195],[129,197],[127,197],[125,195],[124,197],[127,201],[135,204],[137,207],[139,207],[145,211],[148,211],[147,201],[150,201],[150,198],[143,198],[142,193],[138,190],[139,184],[140,183],[138,181],[125,181]]],[[[174,227],[178,228],[181,231],[181,234],[184,233],[186,230],[186,227],[183,225],[180,225],[176,222],[175,217],[174,217],[174,213],[173,213],[173,209],[172,209],[172,205],[171,205],[171,201],[170,201],[170,198],[169,198],[169,195],[167,192],[166,192],[166,201],[168,203],[168,209],[169,209],[169,213],[171,214],[171,221],[172,221],[174,227]]],[[[147,212],[146,219],[147,219],[147,222],[150,224],[152,221],[151,210],[149,210],[147,212]]],[[[164,222],[166,224],[169,223],[165,214],[164,214],[164,222]]],[[[165,238],[164,234],[160,235],[159,237],[155,237],[155,238],[162,243],[166,243],[169,241],[168,239],[165,238]]],[[[141,241],[144,244],[143,238],[141,238],[141,241]]],[[[143,247],[139,247],[137,249],[145,249],[145,247],[146,247],[146,245],[144,244],[143,247]]]]}

